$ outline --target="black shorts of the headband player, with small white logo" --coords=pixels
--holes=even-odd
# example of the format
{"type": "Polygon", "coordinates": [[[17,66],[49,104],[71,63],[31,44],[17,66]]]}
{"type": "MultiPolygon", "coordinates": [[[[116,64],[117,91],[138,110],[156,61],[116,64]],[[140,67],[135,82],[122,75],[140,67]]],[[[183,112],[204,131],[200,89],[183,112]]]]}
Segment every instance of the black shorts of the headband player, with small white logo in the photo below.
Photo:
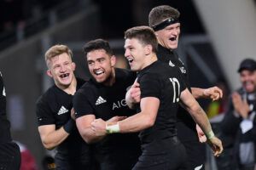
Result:
{"type": "Polygon", "coordinates": [[[199,141],[183,141],[182,142],[187,153],[186,167],[188,170],[197,169],[204,170],[206,162],[206,144],[199,141]]]}

